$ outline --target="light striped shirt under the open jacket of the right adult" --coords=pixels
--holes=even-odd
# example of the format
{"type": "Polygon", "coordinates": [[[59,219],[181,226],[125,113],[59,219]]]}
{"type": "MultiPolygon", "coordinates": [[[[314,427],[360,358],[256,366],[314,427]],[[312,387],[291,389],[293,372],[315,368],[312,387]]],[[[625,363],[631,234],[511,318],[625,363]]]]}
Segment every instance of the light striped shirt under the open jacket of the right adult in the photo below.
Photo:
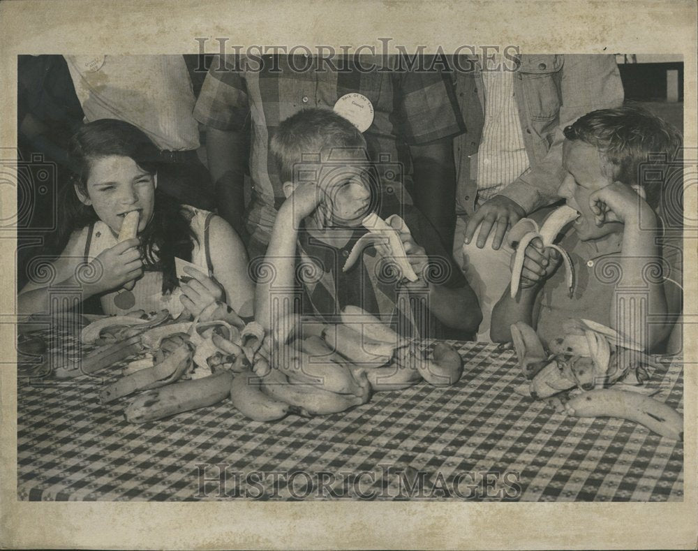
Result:
{"type": "Polygon", "coordinates": [[[484,126],[477,152],[478,202],[496,196],[528,170],[512,71],[482,71],[484,126]]]}

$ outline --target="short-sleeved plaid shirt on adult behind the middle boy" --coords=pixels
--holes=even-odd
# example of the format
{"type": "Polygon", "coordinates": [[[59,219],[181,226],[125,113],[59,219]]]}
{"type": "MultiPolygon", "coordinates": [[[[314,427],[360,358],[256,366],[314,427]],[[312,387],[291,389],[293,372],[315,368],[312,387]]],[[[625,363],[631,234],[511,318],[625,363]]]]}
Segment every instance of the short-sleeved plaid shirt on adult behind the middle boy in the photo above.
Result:
{"type": "MultiPolygon", "coordinates": [[[[276,163],[269,154],[269,140],[279,124],[295,112],[311,107],[332,109],[341,96],[354,92],[369,98],[373,124],[364,132],[364,138],[369,156],[382,167],[380,182],[384,196],[389,196],[384,198],[388,203],[412,203],[404,187],[412,183],[409,145],[425,144],[464,130],[452,83],[441,73],[359,71],[350,57],[334,61],[340,71],[331,71],[329,66],[316,71],[317,65],[309,71],[291,69],[314,63],[316,58],[264,56],[262,60],[261,70],[251,70],[244,58],[226,57],[225,68],[219,70],[218,59],[214,59],[194,117],[224,131],[248,131],[251,126],[253,199],[246,221],[253,238],[264,244],[269,242],[276,209],[284,199],[276,163]],[[346,71],[340,61],[346,64],[346,71]]],[[[360,59],[364,68],[371,63],[380,66],[378,61],[380,58],[360,59]]],[[[395,58],[390,57],[387,66],[394,62],[395,58]]]]}

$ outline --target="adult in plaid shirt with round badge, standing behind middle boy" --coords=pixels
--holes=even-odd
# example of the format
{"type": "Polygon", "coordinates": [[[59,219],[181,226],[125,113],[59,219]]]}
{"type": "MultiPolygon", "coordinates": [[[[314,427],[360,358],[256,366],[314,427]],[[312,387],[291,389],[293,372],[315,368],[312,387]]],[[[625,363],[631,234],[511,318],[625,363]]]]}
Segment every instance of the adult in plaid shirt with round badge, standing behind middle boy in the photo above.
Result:
{"type": "MultiPolygon", "coordinates": [[[[410,204],[406,189],[413,189],[416,206],[450,248],[455,223],[452,137],[463,131],[451,82],[438,71],[397,71],[395,65],[378,71],[385,68],[382,59],[344,57],[325,63],[312,56],[228,56],[225,66],[218,60],[211,64],[194,116],[207,126],[218,210],[240,235],[248,234],[250,258],[264,254],[276,210],[285,200],[269,154],[276,128],[303,108],[332,109],[346,94],[357,94],[355,101],[362,105],[364,115],[358,120],[368,126],[359,130],[371,160],[378,163],[382,204],[410,204]],[[366,117],[370,111],[373,117],[366,117]],[[396,163],[403,167],[403,182],[389,168],[396,163]],[[253,189],[245,208],[247,166],[253,189]]],[[[387,58],[388,64],[396,61],[387,58]]]]}

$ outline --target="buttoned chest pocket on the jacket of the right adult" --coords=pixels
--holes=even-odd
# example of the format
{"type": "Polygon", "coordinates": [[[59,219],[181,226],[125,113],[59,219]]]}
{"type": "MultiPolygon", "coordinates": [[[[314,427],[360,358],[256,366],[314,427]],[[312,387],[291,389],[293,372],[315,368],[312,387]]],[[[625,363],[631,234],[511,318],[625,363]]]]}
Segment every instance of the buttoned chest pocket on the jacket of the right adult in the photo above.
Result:
{"type": "Polygon", "coordinates": [[[525,55],[521,57],[519,78],[523,80],[523,97],[528,117],[534,121],[549,121],[560,112],[559,73],[563,57],[556,54],[525,55]]]}

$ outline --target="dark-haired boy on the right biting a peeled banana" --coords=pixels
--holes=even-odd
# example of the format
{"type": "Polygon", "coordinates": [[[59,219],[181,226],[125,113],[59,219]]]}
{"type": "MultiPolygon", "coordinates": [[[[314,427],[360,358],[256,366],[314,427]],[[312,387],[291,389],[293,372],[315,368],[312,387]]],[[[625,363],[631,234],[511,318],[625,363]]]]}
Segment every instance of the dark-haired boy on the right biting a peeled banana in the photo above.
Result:
{"type": "MultiPolygon", "coordinates": [[[[653,159],[674,159],[679,147],[678,131],[629,105],[593,111],[565,128],[567,176],[558,195],[569,207],[562,214],[572,209],[577,216],[562,230],[562,251],[540,237],[531,240],[530,233],[520,240],[523,266],[517,251],[517,285],[492,312],[494,341],[510,341],[510,326],[523,321],[547,343],[560,336],[566,318],[587,318],[646,351],[664,349],[682,309],[681,235],[660,216],[665,184],[641,175],[653,159]],[[567,270],[558,270],[565,251],[567,270]]],[[[521,237],[523,225],[536,226],[519,224],[512,240],[521,237]]]]}

